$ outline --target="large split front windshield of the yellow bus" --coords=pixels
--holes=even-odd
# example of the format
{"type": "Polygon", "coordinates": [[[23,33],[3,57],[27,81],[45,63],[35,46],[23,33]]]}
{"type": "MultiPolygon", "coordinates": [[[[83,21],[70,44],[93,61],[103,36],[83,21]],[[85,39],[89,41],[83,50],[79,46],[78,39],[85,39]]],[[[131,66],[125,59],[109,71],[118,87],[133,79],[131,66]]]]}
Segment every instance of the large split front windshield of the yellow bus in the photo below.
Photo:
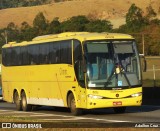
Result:
{"type": "Polygon", "coordinates": [[[124,89],[142,84],[135,41],[86,41],[84,51],[88,88],[124,89]]]}

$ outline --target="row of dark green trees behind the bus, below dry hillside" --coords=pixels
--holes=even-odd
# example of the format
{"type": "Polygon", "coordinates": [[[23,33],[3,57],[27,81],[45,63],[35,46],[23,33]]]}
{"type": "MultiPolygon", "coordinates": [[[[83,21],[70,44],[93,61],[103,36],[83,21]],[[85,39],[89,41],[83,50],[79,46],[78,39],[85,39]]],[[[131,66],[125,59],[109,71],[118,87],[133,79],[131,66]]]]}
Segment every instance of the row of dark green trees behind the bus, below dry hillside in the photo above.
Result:
{"type": "MultiPolygon", "coordinates": [[[[37,1],[49,2],[48,0],[37,1]]],[[[0,5],[2,7],[2,4],[0,5]]],[[[157,19],[157,13],[151,5],[146,8],[146,12],[144,15],[142,9],[132,4],[126,14],[126,24],[117,29],[113,29],[112,23],[108,20],[93,19],[80,15],[65,21],[59,21],[58,17],[48,21],[43,12],[39,12],[34,18],[32,25],[24,21],[21,23],[21,26],[17,26],[10,22],[6,28],[0,29],[0,46],[10,41],[30,41],[36,36],[67,31],[116,32],[133,35],[137,40],[140,52],[142,51],[143,36],[145,55],[160,55],[160,20],[157,19]]]]}

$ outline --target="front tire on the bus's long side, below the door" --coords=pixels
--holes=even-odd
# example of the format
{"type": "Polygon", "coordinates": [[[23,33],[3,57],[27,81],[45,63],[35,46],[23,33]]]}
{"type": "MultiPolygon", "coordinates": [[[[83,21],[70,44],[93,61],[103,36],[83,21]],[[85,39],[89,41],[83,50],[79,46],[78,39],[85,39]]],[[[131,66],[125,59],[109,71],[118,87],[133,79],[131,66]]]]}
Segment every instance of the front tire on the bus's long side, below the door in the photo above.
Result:
{"type": "Polygon", "coordinates": [[[76,102],[73,94],[69,94],[68,96],[68,106],[70,108],[70,112],[74,116],[82,115],[82,109],[76,108],[76,102]]]}

